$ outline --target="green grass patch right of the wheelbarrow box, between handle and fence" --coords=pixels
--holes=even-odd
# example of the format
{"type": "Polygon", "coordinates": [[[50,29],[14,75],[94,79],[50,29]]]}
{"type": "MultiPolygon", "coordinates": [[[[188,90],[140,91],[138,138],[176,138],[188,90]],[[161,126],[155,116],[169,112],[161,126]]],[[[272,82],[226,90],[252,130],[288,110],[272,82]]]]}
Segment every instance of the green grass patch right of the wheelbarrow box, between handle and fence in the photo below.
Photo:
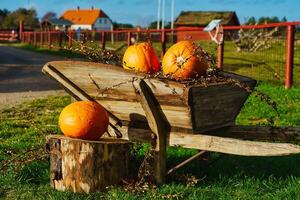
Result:
{"type": "Polygon", "coordinates": [[[268,119],[274,119],[276,126],[300,125],[300,88],[289,90],[284,87],[260,82],[258,91],[268,94],[278,105],[278,113],[266,102],[251,95],[237,118],[238,124],[270,125],[268,119]]]}

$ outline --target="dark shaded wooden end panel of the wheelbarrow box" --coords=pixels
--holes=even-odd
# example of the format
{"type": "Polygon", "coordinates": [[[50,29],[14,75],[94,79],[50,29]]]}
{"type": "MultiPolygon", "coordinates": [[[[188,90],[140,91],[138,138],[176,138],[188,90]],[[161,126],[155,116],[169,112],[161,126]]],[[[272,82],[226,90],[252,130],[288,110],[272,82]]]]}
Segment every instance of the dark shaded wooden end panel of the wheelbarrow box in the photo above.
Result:
{"type": "Polygon", "coordinates": [[[212,85],[190,90],[189,104],[195,132],[234,125],[235,118],[249,95],[235,85],[212,85]]]}

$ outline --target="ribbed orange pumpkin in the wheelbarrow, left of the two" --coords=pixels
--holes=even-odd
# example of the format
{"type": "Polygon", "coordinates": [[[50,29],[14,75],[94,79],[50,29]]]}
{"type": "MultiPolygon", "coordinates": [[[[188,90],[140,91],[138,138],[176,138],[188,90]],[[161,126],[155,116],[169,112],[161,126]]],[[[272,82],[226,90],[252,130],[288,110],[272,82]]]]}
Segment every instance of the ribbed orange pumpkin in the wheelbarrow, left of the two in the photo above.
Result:
{"type": "Polygon", "coordinates": [[[156,73],[160,70],[159,59],[148,42],[129,46],[123,57],[124,69],[143,73],[156,73]]]}

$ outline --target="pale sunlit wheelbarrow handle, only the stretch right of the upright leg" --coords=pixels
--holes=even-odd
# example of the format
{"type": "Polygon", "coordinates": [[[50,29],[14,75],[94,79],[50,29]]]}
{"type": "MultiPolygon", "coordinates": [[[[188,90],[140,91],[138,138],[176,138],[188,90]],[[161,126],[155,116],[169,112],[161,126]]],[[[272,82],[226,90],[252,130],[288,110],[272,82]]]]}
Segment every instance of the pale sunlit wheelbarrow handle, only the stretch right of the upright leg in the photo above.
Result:
{"type": "Polygon", "coordinates": [[[169,145],[241,156],[283,156],[300,153],[300,146],[289,143],[255,142],[200,134],[170,134],[169,145]]]}

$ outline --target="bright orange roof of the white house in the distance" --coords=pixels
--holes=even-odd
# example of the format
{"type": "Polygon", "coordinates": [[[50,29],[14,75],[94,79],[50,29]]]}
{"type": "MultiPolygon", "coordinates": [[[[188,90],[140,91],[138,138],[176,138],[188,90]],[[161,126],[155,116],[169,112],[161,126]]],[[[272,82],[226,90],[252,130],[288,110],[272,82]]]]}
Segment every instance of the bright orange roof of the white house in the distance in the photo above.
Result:
{"type": "Polygon", "coordinates": [[[67,10],[61,16],[62,19],[71,21],[73,24],[93,25],[100,17],[108,16],[100,9],[74,9],[67,10]]]}

